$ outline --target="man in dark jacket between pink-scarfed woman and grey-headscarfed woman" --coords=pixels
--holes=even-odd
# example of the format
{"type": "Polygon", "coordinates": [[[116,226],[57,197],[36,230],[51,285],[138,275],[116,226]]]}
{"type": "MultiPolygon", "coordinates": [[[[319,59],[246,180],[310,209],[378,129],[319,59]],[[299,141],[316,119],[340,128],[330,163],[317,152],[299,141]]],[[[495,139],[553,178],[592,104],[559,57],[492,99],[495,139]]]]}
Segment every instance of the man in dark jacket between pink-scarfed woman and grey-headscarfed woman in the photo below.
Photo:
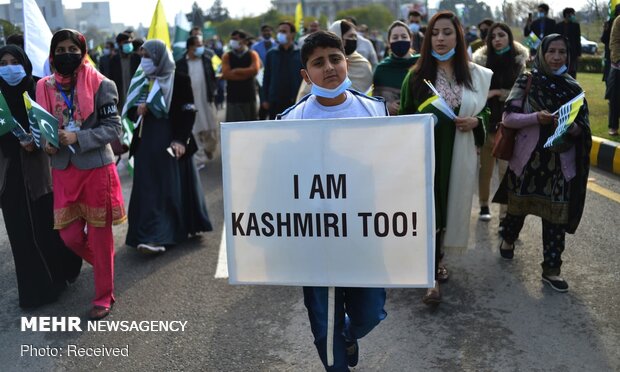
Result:
{"type": "Polygon", "coordinates": [[[110,60],[110,79],[114,81],[118,90],[119,108],[125,104],[129,83],[140,65],[140,56],[133,53],[132,41],[130,34],[125,32],[118,34],[116,36],[118,53],[110,60]]]}

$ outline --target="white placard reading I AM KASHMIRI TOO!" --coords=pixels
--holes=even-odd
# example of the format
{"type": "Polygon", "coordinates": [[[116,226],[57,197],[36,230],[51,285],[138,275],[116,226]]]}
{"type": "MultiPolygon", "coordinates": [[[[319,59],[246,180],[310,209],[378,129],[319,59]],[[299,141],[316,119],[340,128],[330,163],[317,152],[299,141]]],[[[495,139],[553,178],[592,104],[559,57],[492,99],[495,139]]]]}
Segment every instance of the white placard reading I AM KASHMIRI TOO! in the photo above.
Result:
{"type": "Polygon", "coordinates": [[[221,133],[231,284],[432,286],[432,115],[221,133]]]}

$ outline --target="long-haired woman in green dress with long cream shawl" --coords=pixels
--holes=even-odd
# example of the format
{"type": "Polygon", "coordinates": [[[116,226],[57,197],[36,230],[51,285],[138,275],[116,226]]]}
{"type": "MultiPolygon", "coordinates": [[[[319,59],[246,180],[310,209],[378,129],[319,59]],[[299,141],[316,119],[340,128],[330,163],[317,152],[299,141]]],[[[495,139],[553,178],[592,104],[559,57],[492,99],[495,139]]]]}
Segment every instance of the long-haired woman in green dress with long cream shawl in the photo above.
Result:
{"type": "Polygon", "coordinates": [[[467,247],[476,183],[476,148],[484,143],[483,120],[492,71],[469,62],[461,24],[449,11],[431,18],[420,59],[403,81],[399,114],[431,113],[435,125],[435,286],[422,299],[441,302],[443,247],[467,247]]]}

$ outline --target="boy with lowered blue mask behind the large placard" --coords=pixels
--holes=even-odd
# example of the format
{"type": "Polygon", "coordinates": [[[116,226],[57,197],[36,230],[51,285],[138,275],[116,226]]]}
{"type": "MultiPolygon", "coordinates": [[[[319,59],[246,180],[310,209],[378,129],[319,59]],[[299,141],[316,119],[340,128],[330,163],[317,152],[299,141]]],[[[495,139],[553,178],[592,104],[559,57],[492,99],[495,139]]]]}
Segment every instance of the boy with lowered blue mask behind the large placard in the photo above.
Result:
{"type": "MultiPolygon", "coordinates": [[[[301,48],[301,60],[305,67],[301,76],[311,85],[311,92],[277,119],[388,116],[382,98],[348,89],[347,60],[336,34],[317,31],[308,36],[301,48]]],[[[357,365],[357,340],[387,315],[383,310],[384,288],[304,287],[304,303],[314,344],[328,371],[348,371],[347,365],[357,365]],[[330,303],[332,311],[328,310],[330,303]]]]}

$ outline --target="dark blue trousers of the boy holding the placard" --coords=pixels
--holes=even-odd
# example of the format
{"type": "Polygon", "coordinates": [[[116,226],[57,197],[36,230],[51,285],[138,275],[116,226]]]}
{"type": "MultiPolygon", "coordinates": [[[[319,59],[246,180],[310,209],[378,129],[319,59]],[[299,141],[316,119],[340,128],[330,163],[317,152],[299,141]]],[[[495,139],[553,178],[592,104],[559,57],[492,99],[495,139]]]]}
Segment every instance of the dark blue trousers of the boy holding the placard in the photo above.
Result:
{"type": "Polygon", "coordinates": [[[355,341],[366,336],[387,313],[385,289],[339,288],[335,289],[334,314],[334,365],[327,366],[327,287],[304,287],[304,304],[308,309],[314,345],[327,371],[348,371],[345,341],[355,341]]]}

